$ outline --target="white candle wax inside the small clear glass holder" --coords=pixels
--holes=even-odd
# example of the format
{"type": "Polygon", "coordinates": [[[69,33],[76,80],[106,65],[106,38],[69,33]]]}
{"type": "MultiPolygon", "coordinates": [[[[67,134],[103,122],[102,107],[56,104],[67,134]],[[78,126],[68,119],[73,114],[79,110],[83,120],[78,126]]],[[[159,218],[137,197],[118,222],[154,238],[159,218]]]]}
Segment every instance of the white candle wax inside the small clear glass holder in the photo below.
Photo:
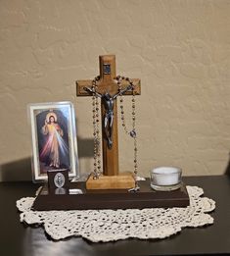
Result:
{"type": "Polygon", "coordinates": [[[181,169],[175,167],[159,167],[151,171],[151,179],[155,185],[174,185],[180,182],[181,169]]]}

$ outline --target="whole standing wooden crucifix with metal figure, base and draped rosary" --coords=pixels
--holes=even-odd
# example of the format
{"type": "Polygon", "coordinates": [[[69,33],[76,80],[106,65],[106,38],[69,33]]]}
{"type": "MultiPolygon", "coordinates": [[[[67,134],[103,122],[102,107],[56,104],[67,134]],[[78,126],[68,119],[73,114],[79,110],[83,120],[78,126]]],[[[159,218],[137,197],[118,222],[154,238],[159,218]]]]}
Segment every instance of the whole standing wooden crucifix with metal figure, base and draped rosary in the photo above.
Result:
{"type": "Polygon", "coordinates": [[[137,185],[137,141],[135,128],[135,95],[140,95],[140,79],[115,75],[115,55],[99,56],[100,76],[93,80],[77,80],[76,95],[91,96],[94,128],[94,172],[86,181],[87,189],[124,189],[137,185]],[[132,95],[132,128],[126,127],[124,119],[123,96],[132,95]],[[134,142],[133,173],[118,174],[117,104],[124,131],[134,142]],[[101,124],[100,128],[100,101],[101,124]],[[101,175],[101,135],[103,175],[101,175]]]}

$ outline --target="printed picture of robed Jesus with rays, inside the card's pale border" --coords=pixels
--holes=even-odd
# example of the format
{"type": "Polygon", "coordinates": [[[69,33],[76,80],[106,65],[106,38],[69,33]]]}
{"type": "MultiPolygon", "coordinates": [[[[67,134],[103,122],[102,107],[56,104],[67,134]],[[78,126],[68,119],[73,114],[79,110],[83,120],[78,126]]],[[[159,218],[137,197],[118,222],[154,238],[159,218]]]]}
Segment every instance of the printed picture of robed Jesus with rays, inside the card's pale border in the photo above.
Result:
{"type": "Polygon", "coordinates": [[[68,169],[69,128],[65,108],[42,111],[36,116],[40,174],[68,169]]]}

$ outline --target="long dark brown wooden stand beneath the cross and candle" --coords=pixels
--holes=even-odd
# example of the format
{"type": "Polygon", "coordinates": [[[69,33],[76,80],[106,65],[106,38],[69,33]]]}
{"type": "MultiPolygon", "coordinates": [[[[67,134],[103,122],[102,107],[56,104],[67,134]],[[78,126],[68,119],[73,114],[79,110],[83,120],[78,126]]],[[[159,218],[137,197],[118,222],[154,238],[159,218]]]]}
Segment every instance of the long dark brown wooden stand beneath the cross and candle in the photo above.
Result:
{"type": "Polygon", "coordinates": [[[88,210],[88,209],[143,209],[154,207],[186,207],[189,195],[185,185],[169,191],[155,191],[150,181],[139,181],[140,190],[128,192],[127,189],[86,189],[85,182],[70,183],[69,189],[78,188],[82,194],[55,194],[45,185],[36,197],[33,210],[88,210]]]}

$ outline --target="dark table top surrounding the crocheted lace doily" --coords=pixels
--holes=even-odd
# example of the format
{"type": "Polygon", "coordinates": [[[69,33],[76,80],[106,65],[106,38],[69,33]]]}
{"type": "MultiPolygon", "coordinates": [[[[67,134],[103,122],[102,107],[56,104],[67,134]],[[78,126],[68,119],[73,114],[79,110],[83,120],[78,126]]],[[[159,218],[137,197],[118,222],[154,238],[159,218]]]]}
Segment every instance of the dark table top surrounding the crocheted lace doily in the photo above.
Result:
{"type": "Polygon", "coordinates": [[[214,224],[186,228],[165,239],[126,239],[92,243],[81,237],[54,241],[41,227],[20,223],[16,200],[34,196],[39,184],[28,181],[0,183],[0,255],[230,255],[230,177],[185,177],[216,202],[210,215],[214,224]]]}

